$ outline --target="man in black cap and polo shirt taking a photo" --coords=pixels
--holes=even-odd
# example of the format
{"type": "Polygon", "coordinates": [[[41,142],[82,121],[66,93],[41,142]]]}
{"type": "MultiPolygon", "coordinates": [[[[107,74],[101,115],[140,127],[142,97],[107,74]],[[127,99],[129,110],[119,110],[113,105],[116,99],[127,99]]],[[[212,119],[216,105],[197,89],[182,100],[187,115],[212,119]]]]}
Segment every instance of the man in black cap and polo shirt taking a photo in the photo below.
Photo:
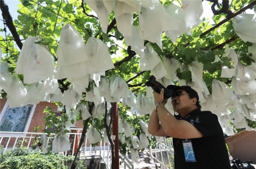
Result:
{"type": "Polygon", "coordinates": [[[148,132],[173,137],[175,169],[231,169],[218,117],[201,111],[198,93],[190,86],[171,85],[171,89],[175,91],[172,106],[178,115],[165,108],[163,89],[160,94],[154,92],[156,107],[148,132]]]}

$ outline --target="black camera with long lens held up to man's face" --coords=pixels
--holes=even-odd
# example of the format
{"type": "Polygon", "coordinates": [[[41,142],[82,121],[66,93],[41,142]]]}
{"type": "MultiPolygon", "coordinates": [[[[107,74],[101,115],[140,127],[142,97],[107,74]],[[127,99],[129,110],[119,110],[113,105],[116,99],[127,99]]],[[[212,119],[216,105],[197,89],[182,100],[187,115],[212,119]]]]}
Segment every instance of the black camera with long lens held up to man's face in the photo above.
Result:
{"type": "Polygon", "coordinates": [[[161,83],[157,82],[153,75],[149,77],[149,80],[145,83],[145,85],[151,87],[155,92],[159,94],[161,89],[163,89],[163,100],[167,100],[174,95],[173,89],[169,89],[168,86],[165,88],[161,83]]]}

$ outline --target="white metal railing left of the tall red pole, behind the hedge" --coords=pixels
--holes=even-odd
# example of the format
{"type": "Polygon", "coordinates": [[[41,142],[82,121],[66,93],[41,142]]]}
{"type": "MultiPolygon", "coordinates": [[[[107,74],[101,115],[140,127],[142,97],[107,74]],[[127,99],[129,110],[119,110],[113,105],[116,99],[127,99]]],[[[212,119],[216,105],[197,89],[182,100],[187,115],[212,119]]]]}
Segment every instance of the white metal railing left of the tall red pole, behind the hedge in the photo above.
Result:
{"type": "MultiPolygon", "coordinates": [[[[75,155],[76,150],[79,146],[79,141],[81,137],[82,129],[73,129],[68,133],[70,138],[71,148],[69,151],[60,153],[64,155],[75,155]]],[[[15,147],[26,146],[31,147],[34,143],[35,138],[40,140],[41,135],[44,133],[36,132],[1,132],[0,131],[0,146],[3,147],[3,153],[6,153],[9,149],[14,149],[15,147]]],[[[54,139],[54,133],[51,133],[48,137],[47,144],[51,146],[51,142],[54,139]]],[[[100,142],[97,146],[92,147],[85,137],[84,143],[81,146],[81,158],[90,156],[99,156],[106,164],[107,168],[111,166],[111,149],[109,143],[100,142]]]]}

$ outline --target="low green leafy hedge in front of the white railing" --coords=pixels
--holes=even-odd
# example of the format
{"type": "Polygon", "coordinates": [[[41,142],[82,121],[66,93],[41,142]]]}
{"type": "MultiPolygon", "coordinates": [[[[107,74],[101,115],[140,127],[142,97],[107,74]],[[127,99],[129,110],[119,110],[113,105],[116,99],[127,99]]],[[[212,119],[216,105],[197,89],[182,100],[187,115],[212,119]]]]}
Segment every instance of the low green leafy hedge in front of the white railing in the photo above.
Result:
{"type": "MultiPolygon", "coordinates": [[[[3,154],[0,150],[0,169],[67,169],[74,157],[29,150],[26,147],[15,148],[3,154]]],[[[81,163],[80,169],[83,167],[81,163]]]]}

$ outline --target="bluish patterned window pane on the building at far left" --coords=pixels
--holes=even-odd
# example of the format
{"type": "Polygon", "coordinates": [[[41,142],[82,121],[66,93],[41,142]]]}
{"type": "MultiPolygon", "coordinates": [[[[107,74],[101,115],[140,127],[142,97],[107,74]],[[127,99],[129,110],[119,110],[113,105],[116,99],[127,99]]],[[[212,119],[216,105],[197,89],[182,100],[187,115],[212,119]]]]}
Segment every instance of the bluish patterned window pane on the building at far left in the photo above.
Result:
{"type": "Polygon", "coordinates": [[[0,131],[23,132],[32,108],[33,105],[27,105],[6,109],[3,117],[0,118],[0,131]]]}

